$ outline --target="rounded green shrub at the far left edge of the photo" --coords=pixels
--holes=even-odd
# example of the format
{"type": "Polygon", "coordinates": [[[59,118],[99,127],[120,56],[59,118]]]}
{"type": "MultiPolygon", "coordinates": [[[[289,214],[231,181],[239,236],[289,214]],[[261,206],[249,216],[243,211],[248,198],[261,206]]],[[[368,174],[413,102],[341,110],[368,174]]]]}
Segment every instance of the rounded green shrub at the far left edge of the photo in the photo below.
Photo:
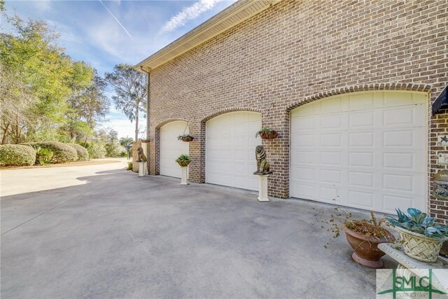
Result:
{"type": "Polygon", "coordinates": [[[0,146],[1,166],[34,165],[36,151],[31,146],[4,144],[0,146]]]}

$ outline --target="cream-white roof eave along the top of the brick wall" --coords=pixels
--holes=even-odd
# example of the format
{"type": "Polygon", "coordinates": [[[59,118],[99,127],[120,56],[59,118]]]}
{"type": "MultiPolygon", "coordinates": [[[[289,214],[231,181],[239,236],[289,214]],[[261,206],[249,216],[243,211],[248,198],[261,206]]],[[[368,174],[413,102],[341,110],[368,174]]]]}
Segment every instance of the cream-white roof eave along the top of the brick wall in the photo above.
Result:
{"type": "Polygon", "coordinates": [[[239,0],[214,17],[173,41],[134,66],[137,71],[148,71],[186,53],[201,43],[213,39],[218,34],[235,27],[239,23],[264,11],[281,0],[239,0]]]}

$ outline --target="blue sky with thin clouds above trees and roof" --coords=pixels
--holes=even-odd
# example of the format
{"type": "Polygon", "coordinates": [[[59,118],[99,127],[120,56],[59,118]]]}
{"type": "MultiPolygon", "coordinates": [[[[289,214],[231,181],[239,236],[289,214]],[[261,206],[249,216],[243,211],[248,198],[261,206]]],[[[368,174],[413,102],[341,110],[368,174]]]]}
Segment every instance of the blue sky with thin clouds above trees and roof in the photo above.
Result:
{"type": "MultiPolygon", "coordinates": [[[[235,1],[6,0],[6,12],[47,21],[66,54],[104,75],[115,64],[137,64],[235,1]]],[[[120,111],[111,109],[109,120],[105,126],[120,137],[134,136],[120,111]]]]}

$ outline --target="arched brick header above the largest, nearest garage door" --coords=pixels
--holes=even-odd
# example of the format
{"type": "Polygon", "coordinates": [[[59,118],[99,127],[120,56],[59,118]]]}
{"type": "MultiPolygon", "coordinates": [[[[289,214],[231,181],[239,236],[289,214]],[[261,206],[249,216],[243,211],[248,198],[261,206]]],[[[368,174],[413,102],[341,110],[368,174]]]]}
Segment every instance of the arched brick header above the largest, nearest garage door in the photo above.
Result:
{"type": "Polygon", "coordinates": [[[288,108],[286,108],[287,112],[301,106],[303,104],[307,104],[309,102],[314,102],[317,99],[323,99],[325,97],[331,97],[333,95],[343,95],[345,93],[350,92],[361,92],[361,91],[372,91],[372,90],[412,90],[419,92],[430,92],[431,86],[427,84],[419,84],[419,83],[372,83],[372,84],[364,84],[364,85],[353,85],[353,86],[344,86],[343,88],[336,88],[334,90],[328,90],[324,92],[319,92],[315,95],[310,95],[301,99],[298,102],[294,102],[288,108]]]}

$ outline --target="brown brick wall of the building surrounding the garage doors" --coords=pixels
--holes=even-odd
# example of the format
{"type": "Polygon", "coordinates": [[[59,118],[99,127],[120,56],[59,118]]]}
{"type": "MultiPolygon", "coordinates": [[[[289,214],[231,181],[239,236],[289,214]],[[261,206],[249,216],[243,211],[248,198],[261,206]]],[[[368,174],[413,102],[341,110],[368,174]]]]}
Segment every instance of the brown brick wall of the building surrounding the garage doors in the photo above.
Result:
{"type": "MultiPolygon", "coordinates": [[[[204,182],[205,121],[260,111],[262,125],[279,130],[279,139],[263,141],[274,170],[269,194],[288,197],[290,109],[383,89],[428,92],[432,103],[448,81],[447,15],[446,0],[286,0],[162,64],[150,76],[150,173],[159,172],[158,128],[167,121],[193,117],[190,180],[204,182]]],[[[434,144],[448,132],[446,120],[428,116],[429,176],[446,168],[435,156],[447,148],[434,144]]],[[[429,208],[448,218],[447,202],[429,208]]]]}

